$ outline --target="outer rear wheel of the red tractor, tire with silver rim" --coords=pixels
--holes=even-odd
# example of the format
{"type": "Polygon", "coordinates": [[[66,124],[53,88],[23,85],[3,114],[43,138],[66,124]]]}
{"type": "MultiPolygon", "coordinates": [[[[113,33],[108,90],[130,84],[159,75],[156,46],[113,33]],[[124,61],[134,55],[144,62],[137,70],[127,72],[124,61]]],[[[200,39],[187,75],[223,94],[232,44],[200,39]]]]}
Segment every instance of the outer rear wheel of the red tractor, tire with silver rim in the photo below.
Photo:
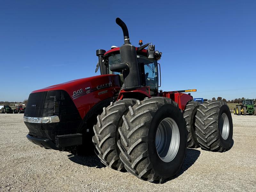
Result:
{"type": "Polygon", "coordinates": [[[233,123],[230,110],[222,100],[204,101],[196,114],[196,135],[200,147],[224,152],[233,143],[233,123]]]}

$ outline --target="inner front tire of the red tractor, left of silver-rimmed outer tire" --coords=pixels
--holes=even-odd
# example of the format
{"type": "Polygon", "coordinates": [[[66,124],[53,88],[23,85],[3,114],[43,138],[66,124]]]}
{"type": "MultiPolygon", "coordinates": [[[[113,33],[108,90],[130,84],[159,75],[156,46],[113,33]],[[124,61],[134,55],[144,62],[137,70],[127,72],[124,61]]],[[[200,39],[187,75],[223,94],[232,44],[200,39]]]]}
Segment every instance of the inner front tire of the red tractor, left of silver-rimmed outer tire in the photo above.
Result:
{"type": "Polygon", "coordinates": [[[103,164],[118,171],[124,168],[124,164],[119,159],[117,147],[118,127],[123,124],[122,116],[135,102],[135,99],[111,102],[107,108],[103,108],[102,114],[97,116],[98,122],[93,127],[95,135],[92,137],[92,142],[97,150],[96,154],[103,164]]]}

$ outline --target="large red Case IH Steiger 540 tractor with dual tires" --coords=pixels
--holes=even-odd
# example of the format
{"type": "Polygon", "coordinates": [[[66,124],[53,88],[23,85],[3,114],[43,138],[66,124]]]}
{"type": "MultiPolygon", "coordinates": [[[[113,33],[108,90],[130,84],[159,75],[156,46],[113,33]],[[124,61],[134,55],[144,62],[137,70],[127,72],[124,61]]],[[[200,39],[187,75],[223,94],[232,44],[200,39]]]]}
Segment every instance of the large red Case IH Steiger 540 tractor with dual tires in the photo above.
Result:
{"type": "MultiPolygon", "coordinates": [[[[150,182],[173,177],[186,148],[223,152],[232,145],[233,124],[222,100],[194,102],[189,92],[158,90],[162,53],[152,44],[97,50],[100,76],[32,92],[24,122],[28,140],[65,151],[86,151],[92,141],[100,161],[150,182]],[[148,49],[145,49],[148,47],[148,49]]],[[[195,90],[194,90],[195,91],[195,90]]]]}

